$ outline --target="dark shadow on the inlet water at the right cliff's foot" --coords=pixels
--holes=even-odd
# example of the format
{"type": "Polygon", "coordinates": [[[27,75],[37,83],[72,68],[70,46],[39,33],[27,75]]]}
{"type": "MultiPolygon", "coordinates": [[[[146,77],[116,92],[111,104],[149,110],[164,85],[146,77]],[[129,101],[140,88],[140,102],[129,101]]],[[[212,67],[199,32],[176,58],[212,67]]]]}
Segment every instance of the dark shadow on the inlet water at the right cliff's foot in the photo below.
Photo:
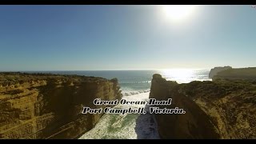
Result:
{"type": "Polygon", "coordinates": [[[150,106],[146,105],[147,114],[140,114],[136,119],[135,132],[138,139],[159,139],[157,122],[154,114],[150,114],[150,106]]]}

